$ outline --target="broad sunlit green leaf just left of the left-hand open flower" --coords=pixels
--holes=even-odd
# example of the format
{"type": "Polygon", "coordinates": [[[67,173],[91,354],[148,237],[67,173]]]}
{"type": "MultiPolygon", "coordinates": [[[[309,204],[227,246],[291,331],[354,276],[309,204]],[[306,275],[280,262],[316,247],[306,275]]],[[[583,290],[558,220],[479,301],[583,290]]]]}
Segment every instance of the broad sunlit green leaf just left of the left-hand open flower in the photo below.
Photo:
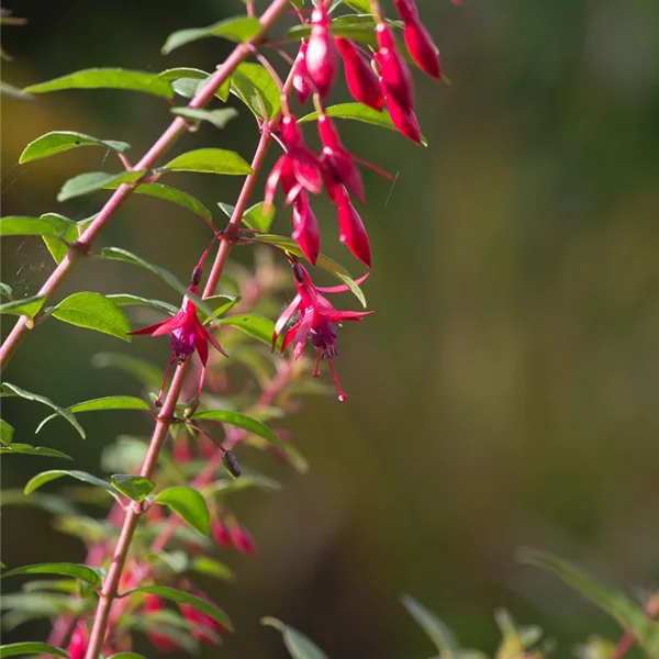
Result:
{"type": "Polygon", "coordinates": [[[52,311],[58,321],[110,334],[131,342],[131,325],[119,305],[101,293],[80,292],[69,295],[52,311]]]}

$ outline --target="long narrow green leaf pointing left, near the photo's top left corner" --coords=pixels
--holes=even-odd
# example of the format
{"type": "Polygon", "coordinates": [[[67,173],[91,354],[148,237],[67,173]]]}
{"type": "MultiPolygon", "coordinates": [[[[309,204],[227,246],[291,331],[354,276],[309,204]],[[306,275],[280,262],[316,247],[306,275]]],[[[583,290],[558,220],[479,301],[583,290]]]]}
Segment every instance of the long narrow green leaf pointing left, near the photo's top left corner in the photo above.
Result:
{"type": "Polygon", "coordinates": [[[47,82],[38,82],[23,89],[29,93],[44,93],[63,89],[130,89],[170,99],[171,86],[157,74],[131,71],[119,68],[92,68],[68,74],[47,82]]]}

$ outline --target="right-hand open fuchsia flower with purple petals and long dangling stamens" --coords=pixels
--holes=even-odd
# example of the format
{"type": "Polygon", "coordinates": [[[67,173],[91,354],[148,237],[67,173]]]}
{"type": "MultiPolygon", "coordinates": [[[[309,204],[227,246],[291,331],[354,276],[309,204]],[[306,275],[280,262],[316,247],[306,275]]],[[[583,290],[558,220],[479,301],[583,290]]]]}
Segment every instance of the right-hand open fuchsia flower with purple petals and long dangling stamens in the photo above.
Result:
{"type": "MultiPolygon", "coordinates": [[[[293,264],[293,280],[298,289],[297,295],[292,302],[284,309],[275,324],[272,333],[272,349],[277,345],[279,336],[284,327],[291,321],[297,312],[300,312],[301,319],[286,333],[281,351],[292,343],[293,357],[298,359],[304,350],[306,339],[311,338],[311,343],[316,349],[316,361],[313,370],[313,377],[320,376],[321,359],[327,359],[330,370],[334,377],[334,382],[338,391],[338,400],[345,401],[346,393],[340,387],[338,376],[334,368],[333,358],[336,356],[336,332],[334,325],[343,321],[361,321],[365,316],[373,313],[372,311],[338,311],[332,306],[330,301],[321,294],[321,289],[316,288],[309,276],[309,272],[298,263],[293,264]]],[[[344,292],[347,287],[334,287],[334,289],[325,290],[325,292],[344,292]]]]}

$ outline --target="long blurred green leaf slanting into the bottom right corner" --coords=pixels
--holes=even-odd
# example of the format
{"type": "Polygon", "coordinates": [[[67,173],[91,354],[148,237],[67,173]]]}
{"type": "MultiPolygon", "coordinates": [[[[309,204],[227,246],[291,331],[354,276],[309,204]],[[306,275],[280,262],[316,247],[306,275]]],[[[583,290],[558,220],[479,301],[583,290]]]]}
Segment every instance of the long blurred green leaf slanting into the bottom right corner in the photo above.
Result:
{"type": "Polygon", "coordinates": [[[623,593],[597,583],[585,572],[551,554],[523,547],[517,550],[517,559],[552,572],[612,616],[624,629],[629,629],[650,657],[659,655],[659,622],[650,619],[639,604],[623,593]]]}

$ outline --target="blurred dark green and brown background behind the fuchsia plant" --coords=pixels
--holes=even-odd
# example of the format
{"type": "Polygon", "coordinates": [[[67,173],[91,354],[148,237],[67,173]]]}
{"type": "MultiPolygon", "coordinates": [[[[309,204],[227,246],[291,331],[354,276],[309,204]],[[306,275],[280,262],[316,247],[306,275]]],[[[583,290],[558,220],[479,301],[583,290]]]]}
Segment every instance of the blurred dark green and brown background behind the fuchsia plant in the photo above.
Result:
{"type": "MultiPolygon", "coordinates": [[[[272,465],[286,490],[241,500],[260,556],[228,557],[238,582],[209,589],[239,630],[221,650],[227,657],[286,656],[259,626],[261,615],[297,626],[335,659],[427,657],[428,641],[399,603],[403,592],[465,645],[492,649],[492,612],[503,605],[543,625],[567,657],[591,633],[618,633],[549,577],[517,565],[517,546],[560,554],[632,592],[659,578],[659,4],[418,4],[451,85],[416,77],[427,149],[342,124],[355,153],[399,174],[391,189],[365,172],[369,203],[360,211],[373,248],[366,292],[377,313],[340,335],[349,401],[309,400],[291,422],[311,472],[272,465]]],[[[9,8],[30,23],[0,32],[15,58],[0,63],[0,78],[22,86],[92,66],[211,69],[228,52],[219,40],[168,57],[159,48],[171,31],[238,13],[242,3],[20,0],[9,8]]],[[[249,159],[257,133],[241,111],[228,130],[203,127],[177,149],[221,146],[249,159]]],[[[161,100],[131,92],[0,97],[0,213],[81,219],[102,203],[102,194],[55,201],[67,178],[114,167],[98,150],[15,164],[40,134],[78,130],[142,154],[168,118],[161,100]]],[[[232,203],[239,186],[177,177],[172,185],[210,206],[232,203]]],[[[316,210],[324,250],[359,272],[338,245],[332,209],[316,210]]],[[[290,233],[288,212],[275,231],[290,233]]],[[[132,198],[101,243],[185,281],[206,239],[186,211],[132,198]]],[[[51,269],[38,239],[0,242],[0,280],[18,294],[34,293],[51,269]]],[[[119,264],[81,264],[63,293],[80,289],[177,302],[154,278],[119,264]]],[[[0,334],[10,325],[0,319],[0,334]]],[[[47,327],[27,337],[3,378],[62,404],[138,392],[127,377],[91,366],[99,350],[163,364],[168,355],[165,340],[118,346],[47,327]]],[[[16,439],[33,442],[42,410],[3,401],[0,414],[16,439]]],[[[98,470],[101,447],[118,434],[148,432],[129,414],[101,416],[86,420],[86,443],[52,424],[38,444],[98,470]]],[[[51,467],[5,457],[0,484],[20,487],[51,467]]],[[[80,544],[27,507],[0,510],[0,547],[9,566],[83,558],[80,544]]],[[[19,627],[2,640],[45,633],[19,627]]]]}

